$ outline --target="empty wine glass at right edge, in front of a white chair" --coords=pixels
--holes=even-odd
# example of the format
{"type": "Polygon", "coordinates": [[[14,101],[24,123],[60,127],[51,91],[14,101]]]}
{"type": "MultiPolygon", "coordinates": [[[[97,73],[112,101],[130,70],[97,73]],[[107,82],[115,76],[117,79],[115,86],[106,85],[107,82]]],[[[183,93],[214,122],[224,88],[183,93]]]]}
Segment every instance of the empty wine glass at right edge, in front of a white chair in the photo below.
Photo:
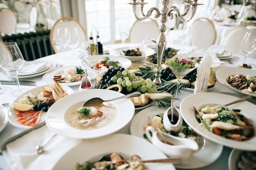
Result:
{"type": "Polygon", "coordinates": [[[245,37],[241,41],[240,46],[243,52],[245,53],[245,59],[243,62],[245,63],[245,60],[248,57],[248,55],[252,54],[256,50],[256,32],[247,32],[245,34],[245,37]]]}

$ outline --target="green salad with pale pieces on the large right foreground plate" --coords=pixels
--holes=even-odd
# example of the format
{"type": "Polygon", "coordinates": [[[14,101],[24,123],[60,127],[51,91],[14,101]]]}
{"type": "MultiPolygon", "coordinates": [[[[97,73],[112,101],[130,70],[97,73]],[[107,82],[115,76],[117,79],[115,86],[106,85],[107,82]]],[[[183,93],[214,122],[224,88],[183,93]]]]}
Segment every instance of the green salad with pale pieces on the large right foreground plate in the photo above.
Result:
{"type": "Polygon", "coordinates": [[[195,117],[208,131],[227,139],[237,141],[249,140],[255,129],[239,109],[230,110],[224,106],[203,107],[195,109],[195,117]]]}

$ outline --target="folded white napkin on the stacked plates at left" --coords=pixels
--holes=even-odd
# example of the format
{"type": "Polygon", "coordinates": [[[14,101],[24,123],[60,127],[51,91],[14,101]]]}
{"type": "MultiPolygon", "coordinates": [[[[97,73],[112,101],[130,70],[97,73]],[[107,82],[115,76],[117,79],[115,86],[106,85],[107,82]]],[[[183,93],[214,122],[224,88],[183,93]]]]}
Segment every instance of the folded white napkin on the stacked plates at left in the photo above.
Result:
{"type": "Polygon", "coordinates": [[[20,73],[31,73],[31,72],[40,72],[41,70],[45,69],[47,67],[47,62],[42,63],[32,63],[30,61],[24,60],[24,66],[20,73]]]}

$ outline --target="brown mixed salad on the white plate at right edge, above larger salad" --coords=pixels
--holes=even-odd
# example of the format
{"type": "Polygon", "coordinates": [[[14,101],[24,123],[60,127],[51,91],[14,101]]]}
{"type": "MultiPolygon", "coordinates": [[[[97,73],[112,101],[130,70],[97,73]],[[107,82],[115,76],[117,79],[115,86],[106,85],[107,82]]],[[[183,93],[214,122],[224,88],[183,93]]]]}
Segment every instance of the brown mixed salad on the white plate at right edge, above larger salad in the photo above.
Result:
{"type": "Polygon", "coordinates": [[[227,83],[242,92],[256,94],[256,78],[254,76],[231,75],[227,78],[227,83]]]}

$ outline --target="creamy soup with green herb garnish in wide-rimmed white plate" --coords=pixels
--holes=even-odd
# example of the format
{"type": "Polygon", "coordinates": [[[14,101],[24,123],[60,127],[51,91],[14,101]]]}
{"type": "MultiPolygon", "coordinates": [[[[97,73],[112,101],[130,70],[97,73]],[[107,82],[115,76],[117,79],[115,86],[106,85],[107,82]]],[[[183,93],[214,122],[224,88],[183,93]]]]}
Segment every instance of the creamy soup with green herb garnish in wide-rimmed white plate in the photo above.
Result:
{"type": "Polygon", "coordinates": [[[110,103],[108,105],[78,107],[76,111],[70,111],[68,124],[76,129],[98,129],[112,122],[116,117],[116,112],[115,107],[110,103]]]}

